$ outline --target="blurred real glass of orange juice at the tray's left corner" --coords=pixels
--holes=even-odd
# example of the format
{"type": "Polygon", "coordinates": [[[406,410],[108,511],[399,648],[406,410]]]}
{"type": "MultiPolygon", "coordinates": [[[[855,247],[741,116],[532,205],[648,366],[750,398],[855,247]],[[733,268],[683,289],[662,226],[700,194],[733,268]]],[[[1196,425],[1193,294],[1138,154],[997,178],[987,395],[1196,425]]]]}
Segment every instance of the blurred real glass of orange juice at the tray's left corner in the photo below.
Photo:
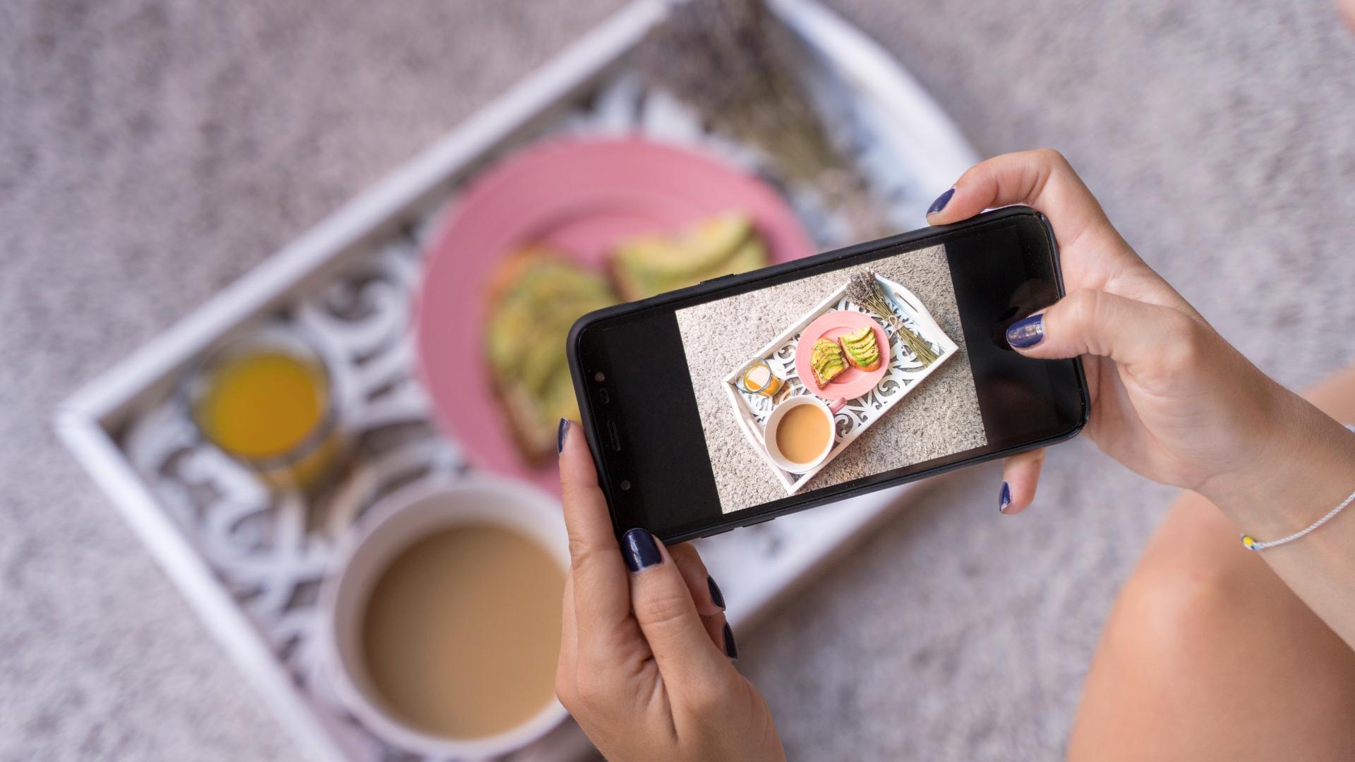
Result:
{"type": "Polygon", "coordinates": [[[203,438],[274,487],[313,487],[340,452],[324,359],[298,336],[268,328],[210,351],[187,381],[203,438]]]}

